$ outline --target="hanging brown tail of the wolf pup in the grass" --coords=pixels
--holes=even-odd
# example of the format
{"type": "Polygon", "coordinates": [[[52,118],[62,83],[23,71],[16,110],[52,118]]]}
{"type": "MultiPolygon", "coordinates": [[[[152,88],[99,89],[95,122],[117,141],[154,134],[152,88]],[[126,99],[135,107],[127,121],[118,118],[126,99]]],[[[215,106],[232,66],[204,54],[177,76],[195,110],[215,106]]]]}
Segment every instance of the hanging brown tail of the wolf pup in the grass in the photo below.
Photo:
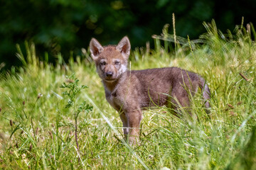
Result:
{"type": "Polygon", "coordinates": [[[203,101],[206,106],[206,113],[210,113],[210,110],[209,110],[209,108],[210,108],[210,103],[209,103],[210,89],[209,89],[208,85],[206,84],[206,80],[201,78],[199,87],[200,87],[201,91],[203,91],[203,101]]]}

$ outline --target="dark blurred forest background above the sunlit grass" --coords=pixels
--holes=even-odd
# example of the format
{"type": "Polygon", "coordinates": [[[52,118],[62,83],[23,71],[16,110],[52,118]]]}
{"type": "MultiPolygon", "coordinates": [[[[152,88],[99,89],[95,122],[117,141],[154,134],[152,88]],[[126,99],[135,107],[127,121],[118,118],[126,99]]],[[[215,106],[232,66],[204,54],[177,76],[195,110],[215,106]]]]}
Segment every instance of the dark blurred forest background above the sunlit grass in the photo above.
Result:
{"type": "MultiPolygon", "coordinates": [[[[132,48],[153,42],[151,35],[161,33],[166,23],[176,17],[176,34],[191,39],[205,33],[203,21],[215,22],[220,30],[233,31],[244,23],[256,21],[255,0],[6,0],[0,1],[0,64],[4,68],[18,65],[16,44],[24,49],[24,41],[36,44],[43,60],[49,62],[61,52],[65,60],[80,55],[90,39],[102,45],[117,43],[128,35],[132,48]],[[3,65],[3,64],[1,64],[3,65]]],[[[0,68],[1,70],[1,68],[0,68]]]]}

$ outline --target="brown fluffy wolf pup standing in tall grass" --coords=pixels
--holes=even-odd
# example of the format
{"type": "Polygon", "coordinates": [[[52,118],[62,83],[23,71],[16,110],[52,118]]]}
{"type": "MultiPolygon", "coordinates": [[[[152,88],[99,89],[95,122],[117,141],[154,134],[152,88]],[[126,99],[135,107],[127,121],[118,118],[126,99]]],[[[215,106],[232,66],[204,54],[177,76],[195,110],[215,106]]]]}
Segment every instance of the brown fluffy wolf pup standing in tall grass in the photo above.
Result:
{"type": "Polygon", "coordinates": [[[95,38],[90,41],[91,56],[102,79],[105,96],[119,112],[124,136],[129,137],[129,143],[138,141],[143,108],[163,105],[174,108],[174,111],[181,107],[188,108],[188,96],[198,88],[203,91],[206,108],[210,107],[210,90],[198,74],[177,67],[127,70],[130,49],[127,37],[122,38],[118,45],[105,47],[95,38]]]}

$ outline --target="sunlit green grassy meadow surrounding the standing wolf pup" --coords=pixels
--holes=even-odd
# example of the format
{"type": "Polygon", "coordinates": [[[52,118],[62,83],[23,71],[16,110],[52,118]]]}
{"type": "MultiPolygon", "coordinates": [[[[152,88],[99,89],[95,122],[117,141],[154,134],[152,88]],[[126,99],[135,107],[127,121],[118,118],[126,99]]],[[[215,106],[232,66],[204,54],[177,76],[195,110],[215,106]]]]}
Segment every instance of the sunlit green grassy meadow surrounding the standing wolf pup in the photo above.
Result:
{"type": "Polygon", "coordinates": [[[26,51],[17,45],[23,67],[0,79],[0,169],[256,169],[255,30],[247,24],[221,33],[214,21],[204,25],[198,40],[165,26],[153,35],[154,49],[147,44],[131,52],[129,67],[201,74],[211,91],[210,115],[200,97],[193,99],[197,118],[148,109],[140,145],[132,147],[122,141],[122,121],[105,99],[88,50],[68,64],[58,55],[53,66],[39,61],[35,45],[26,43],[26,51]],[[79,81],[66,78],[73,73],[79,81]],[[64,82],[88,88],[71,100],[60,88],[64,82]],[[93,108],[78,114],[84,101],[93,108]]]}

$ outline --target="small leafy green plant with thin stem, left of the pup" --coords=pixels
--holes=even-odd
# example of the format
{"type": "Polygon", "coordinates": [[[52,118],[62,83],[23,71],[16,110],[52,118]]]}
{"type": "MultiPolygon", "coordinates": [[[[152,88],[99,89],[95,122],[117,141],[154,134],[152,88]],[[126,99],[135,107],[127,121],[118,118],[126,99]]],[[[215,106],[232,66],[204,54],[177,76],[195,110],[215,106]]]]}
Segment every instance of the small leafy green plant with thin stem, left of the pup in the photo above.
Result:
{"type": "Polygon", "coordinates": [[[78,145],[78,115],[82,111],[89,112],[92,111],[92,106],[86,103],[86,101],[83,101],[82,103],[77,103],[77,97],[79,92],[82,89],[88,88],[85,85],[79,86],[78,82],[79,79],[75,77],[75,74],[72,74],[70,77],[66,76],[68,84],[65,82],[61,84],[60,88],[68,89],[67,91],[64,91],[63,94],[65,96],[68,96],[68,104],[65,106],[65,108],[73,108],[73,112],[75,115],[75,142],[77,145],[78,152],[79,145],[78,145]]]}

